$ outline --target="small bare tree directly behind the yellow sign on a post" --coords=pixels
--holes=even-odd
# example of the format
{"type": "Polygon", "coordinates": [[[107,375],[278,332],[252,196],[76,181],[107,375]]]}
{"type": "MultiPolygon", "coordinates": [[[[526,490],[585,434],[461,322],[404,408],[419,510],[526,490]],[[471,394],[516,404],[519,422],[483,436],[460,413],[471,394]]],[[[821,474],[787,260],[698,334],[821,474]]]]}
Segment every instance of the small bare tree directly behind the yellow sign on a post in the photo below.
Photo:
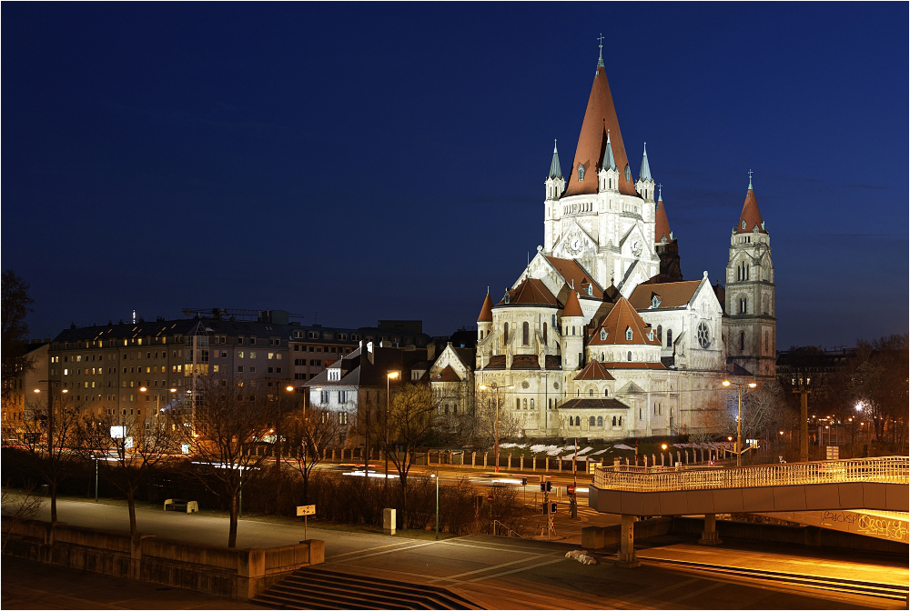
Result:
{"type": "Polygon", "coordinates": [[[326,450],[340,446],[348,433],[346,415],[328,409],[294,411],[282,419],[281,432],[290,446],[290,458],[303,479],[303,503],[309,502],[309,474],[322,462],[326,450]]]}

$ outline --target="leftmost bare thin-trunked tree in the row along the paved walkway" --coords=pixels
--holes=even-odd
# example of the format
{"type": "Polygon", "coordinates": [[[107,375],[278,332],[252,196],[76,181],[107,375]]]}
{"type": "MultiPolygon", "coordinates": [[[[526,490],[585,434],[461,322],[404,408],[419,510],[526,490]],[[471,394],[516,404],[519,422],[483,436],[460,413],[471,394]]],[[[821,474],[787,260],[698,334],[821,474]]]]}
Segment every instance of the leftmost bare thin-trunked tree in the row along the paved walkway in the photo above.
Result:
{"type": "Polygon", "coordinates": [[[68,396],[61,395],[52,404],[54,431],[48,436],[47,406],[26,401],[25,414],[19,429],[18,450],[25,456],[26,468],[47,485],[51,497],[51,521],[56,522],[57,487],[74,466],[70,445],[76,437],[79,406],[74,406],[68,396]]]}

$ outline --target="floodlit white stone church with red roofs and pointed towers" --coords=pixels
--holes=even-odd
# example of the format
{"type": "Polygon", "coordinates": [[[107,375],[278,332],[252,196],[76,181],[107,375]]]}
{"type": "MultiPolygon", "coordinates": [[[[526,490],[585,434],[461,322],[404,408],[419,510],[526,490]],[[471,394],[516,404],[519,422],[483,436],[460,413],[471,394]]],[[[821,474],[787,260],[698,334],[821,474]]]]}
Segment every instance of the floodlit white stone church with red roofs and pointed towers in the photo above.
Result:
{"type": "Polygon", "coordinates": [[[774,374],[771,241],[751,174],[725,286],[683,279],[645,145],[632,175],[601,50],[568,171],[553,148],[543,244],[498,301],[483,300],[473,366],[449,346],[431,384],[465,386],[476,406],[498,400],[517,436],[710,430],[724,378],[774,374]]]}

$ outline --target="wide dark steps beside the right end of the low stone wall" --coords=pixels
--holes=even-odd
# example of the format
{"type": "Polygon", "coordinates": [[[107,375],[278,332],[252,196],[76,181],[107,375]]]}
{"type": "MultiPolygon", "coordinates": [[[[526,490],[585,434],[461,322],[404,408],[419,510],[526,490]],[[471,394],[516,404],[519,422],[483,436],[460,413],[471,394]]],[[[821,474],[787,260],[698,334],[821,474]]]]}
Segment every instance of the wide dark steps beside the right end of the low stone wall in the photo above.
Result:
{"type": "Polygon", "coordinates": [[[276,609],[478,609],[445,588],[305,567],[251,602],[276,609]]]}

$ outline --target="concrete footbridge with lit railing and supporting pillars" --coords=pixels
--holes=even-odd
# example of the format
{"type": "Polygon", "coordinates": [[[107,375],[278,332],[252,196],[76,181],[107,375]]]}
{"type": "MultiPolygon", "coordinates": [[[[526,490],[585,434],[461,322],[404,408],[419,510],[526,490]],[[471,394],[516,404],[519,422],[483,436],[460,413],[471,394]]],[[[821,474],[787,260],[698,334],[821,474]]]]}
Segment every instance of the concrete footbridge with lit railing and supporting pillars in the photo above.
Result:
{"type": "Polygon", "coordinates": [[[637,516],[703,514],[701,543],[720,543],[716,514],[825,510],[907,512],[910,458],[723,467],[605,466],[594,471],[588,505],[622,516],[622,566],[637,566],[637,516]]]}

